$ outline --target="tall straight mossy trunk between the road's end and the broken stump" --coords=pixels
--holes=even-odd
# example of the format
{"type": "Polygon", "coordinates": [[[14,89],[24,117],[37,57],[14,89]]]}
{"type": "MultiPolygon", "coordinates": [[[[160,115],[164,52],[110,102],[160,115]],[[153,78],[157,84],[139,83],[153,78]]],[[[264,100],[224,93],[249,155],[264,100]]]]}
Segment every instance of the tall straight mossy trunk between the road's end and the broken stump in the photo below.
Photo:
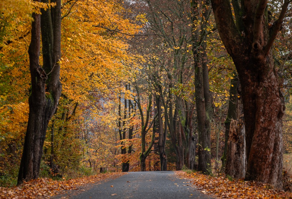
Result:
{"type": "Polygon", "coordinates": [[[203,5],[198,2],[192,3],[193,12],[193,56],[195,62],[195,101],[198,120],[198,169],[203,173],[211,173],[211,141],[210,123],[213,115],[212,98],[210,95],[207,54],[206,54],[206,26],[210,16],[209,2],[203,5]],[[198,8],[202,6],[201,10],[198,8]],[[203,17],[199,18],[199,12],[203,12],[203,17]],[[196,27],[196,22],[201,21],[201,27],[196,27]]]}

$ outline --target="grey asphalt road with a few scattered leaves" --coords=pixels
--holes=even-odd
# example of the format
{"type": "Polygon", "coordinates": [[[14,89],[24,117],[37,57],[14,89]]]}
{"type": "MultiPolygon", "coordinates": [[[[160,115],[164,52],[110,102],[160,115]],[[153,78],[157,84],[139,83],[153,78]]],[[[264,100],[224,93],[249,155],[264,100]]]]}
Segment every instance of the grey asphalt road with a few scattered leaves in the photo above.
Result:
{"type": "Polygon", "coordinates": [[[96,184],[71,198],[212,198],[201,193],[189,181],[177,178],[173,171],[128,172],[120,178],[96,184]]]}

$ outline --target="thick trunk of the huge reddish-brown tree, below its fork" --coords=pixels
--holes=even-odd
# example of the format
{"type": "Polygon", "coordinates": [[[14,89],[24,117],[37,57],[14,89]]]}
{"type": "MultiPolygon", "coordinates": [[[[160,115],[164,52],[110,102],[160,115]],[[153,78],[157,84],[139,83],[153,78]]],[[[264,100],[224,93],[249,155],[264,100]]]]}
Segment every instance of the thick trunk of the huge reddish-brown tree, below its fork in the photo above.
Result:
{"type": "Polygon", "coordinates": [[[246,74],[247,77],[240,76],[248,161],[245,179],[282,187],[281,127],[285,106],[279,88],[278,74],[274,70],[272,61],[272,53],[270,53],[265,63],[249,64],[254,68],[269,68],[269,70],[265,70],[263,74],[249,72],[246,74]]]}

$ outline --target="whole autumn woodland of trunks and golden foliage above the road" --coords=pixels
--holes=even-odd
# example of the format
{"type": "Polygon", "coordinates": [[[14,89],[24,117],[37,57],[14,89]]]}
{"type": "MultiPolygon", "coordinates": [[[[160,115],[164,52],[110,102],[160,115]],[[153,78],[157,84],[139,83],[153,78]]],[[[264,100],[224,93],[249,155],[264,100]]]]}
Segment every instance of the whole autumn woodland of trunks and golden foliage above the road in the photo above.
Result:
{"type": "Polygon", "coordinates": [[[291,0],[0,13],[0,186],[188,169],[291,191],[291,0]]]}

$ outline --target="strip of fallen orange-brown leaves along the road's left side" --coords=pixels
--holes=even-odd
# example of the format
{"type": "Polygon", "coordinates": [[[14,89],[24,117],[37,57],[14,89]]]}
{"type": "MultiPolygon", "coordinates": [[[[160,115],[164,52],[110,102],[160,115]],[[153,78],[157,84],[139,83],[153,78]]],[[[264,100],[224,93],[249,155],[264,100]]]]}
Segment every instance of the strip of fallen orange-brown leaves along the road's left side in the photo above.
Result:
{"type": "Polygon", "coordinates": [[[125,173],[105,173],[64,181],[36,179],[24,182],[19,187],[0,187],[0,198],[49,198],[64,193],[64,190],[78,190],[87,184],[107,178],[117,178],[124,174],[125,173]]]}

